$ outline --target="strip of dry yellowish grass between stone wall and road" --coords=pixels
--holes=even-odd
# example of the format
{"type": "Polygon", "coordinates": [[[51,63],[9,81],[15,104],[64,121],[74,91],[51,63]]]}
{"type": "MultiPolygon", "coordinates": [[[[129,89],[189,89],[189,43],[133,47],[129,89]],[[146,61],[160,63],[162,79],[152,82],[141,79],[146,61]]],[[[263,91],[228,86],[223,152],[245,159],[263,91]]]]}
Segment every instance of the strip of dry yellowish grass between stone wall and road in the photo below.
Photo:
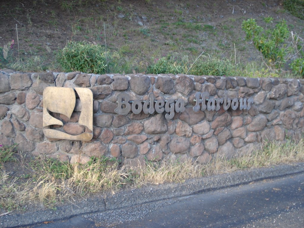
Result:
{"type": "Polygon", "coordinates": [[[86,165],[64,164],[36,159],[30,164],[31,177],[11,178],[0,173],[0,210],[22,209],[27,204],[55,208],[57,203],[101,191],[117,191],[123,186],[180,182],[188,178],[227,173],[244,168],[257,168],[279,163],[304,161],[304,139],[298,143],[267,143],[262,150],[226,160],[215,157],[205,165],[192,160],[182,163],[147,162],[136,169],[109,159],[92,159],[86,165]],[[109,165],[112,163],[112,165],[109,165]],[[2,208],[2,209],[1,209],[2,208]]]}

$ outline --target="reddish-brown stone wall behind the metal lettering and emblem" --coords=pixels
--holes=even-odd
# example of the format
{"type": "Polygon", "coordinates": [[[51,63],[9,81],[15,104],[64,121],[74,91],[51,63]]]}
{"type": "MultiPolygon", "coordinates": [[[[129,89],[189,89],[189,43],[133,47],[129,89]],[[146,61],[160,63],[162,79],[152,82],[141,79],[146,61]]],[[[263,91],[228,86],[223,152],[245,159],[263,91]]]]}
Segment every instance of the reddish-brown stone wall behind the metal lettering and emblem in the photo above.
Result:
{"type": "MultiPolygon", "coordinates": [[[[265,140],[298,140],[304,126],[304,81],[278,78],[186,76],[182,74],[20,73],[0,71],[0,144],[18,143],[18,149],[61,161],[86,162],[91,156],[122,158],[133,165],[144,161],[184,161],[204,164],[216,155],[230,158],[259,147],[265,140]],[[47,86],[87,87],[93,92],[93,139],[90,142],[47,139],[43,134],[43,89],[47,86]],[[249,110],[193,111],[196,92],[214,98],[253,98],[249,110]],[[164,113],[118,115],[116,96],[131,100],[185,101],[185,111],[165,119],[164,113]],[[80,159],[80,160],[79,160],[80,159]]],[[[54,114],[64,131],[78,134],[81,103],[71,119],[54,114]]]]}

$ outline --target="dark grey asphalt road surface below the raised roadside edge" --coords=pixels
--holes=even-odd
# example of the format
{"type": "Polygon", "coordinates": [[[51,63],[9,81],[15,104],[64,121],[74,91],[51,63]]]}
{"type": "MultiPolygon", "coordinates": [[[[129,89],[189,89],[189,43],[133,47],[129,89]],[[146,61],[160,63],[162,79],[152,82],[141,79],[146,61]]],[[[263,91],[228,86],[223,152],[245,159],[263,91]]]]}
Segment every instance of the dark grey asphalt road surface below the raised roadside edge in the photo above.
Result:
{"type": "Polygon", "coordinates": [[[304,227],[304,174],[31,227],[304,227]]]}

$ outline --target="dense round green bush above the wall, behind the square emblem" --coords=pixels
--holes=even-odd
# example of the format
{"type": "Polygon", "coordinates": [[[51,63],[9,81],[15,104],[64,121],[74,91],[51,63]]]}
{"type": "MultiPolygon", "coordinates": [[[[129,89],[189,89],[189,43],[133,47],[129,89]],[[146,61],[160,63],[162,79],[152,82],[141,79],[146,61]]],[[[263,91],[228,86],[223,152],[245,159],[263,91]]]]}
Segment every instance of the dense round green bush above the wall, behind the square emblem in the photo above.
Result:
{"type": "Polygon", "coordinates": [[[57,61],[64,71],[104,74],[107,72],[110,53],[98,44],[88,42],[69,42],[57,54],[57,61]]]}

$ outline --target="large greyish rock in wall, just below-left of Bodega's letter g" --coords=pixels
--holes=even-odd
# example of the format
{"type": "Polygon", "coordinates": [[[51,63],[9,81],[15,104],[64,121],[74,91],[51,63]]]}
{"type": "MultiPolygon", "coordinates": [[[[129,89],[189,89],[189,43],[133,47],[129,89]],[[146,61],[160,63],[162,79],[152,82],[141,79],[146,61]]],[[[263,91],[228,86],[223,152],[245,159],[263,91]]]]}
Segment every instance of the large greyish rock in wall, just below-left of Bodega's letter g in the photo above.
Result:
{"type": "Polygon", "coordinates": [[[143,124],[143,131],[146,134],[162,134],[167,131],[166,119],[163,113],[146,120],[143,124]]]}

